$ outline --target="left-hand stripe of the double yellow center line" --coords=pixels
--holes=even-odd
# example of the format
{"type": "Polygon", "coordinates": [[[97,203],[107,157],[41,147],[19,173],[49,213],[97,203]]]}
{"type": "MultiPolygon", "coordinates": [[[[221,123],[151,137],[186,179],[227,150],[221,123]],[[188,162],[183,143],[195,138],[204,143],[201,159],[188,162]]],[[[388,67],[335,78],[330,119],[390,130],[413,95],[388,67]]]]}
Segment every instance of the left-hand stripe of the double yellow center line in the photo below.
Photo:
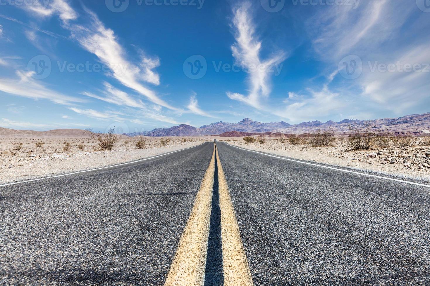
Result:
{"type": "Polygon", "coordinates": [[[215,145],[165,285],[203,285],[215,177],[215,145]]]}

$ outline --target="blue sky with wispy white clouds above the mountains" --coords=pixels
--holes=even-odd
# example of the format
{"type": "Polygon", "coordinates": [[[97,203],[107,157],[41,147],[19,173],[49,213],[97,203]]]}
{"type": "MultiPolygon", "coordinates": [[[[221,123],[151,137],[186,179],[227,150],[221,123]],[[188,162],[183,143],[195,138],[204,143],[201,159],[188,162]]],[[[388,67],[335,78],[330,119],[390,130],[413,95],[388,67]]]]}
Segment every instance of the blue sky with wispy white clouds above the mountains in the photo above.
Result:
{"type": "Polygon", "coordinates": [[[429,29],[428,0],[0,0],[0,126],[429,112],[429,29]]]}

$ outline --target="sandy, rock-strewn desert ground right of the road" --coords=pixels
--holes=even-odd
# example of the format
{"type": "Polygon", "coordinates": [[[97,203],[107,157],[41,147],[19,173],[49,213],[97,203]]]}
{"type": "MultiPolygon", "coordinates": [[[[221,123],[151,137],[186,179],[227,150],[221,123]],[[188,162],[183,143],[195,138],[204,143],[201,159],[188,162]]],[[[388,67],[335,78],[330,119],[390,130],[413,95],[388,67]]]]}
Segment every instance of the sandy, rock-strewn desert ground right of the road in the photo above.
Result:
{"type": "Polygon", "coordinates": [[[273,138],[266,138],[264,144],[259,142],[245,144],[243,138],[216,137],[216,139],[254,151],[430,181],[430,146],[427,146],[429,138],[416,138],[414,147],[405,147],[399,142],[391,142],[389,148],[366,151],[347,151],[350,147],[346,138],[343,140],[338,138],[334,147],[324,148],[290,145],[286,140],[273,138]]]}

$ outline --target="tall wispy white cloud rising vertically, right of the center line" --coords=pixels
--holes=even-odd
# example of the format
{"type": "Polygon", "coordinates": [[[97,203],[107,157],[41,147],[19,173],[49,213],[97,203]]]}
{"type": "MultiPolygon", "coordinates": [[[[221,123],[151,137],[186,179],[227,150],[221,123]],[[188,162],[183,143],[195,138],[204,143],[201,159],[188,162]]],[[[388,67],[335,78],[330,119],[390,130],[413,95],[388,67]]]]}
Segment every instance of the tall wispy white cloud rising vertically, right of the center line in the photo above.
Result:
{"type": "Polygon", "coordinates": [[[261,108],[261,97],[268,97],[271,92],[270,75],[273,66],[286,58],[283,51],[274,52],[267,60],[260,59],[261,41],[255,36],[255,27],[251,17],[251,3],[244,2],[233,9],[233,25],[236,29],[236,43],[231,47],[233,57],[249,74],[249,94],[227,92],[230,99],[238,100],[261,108]]]}

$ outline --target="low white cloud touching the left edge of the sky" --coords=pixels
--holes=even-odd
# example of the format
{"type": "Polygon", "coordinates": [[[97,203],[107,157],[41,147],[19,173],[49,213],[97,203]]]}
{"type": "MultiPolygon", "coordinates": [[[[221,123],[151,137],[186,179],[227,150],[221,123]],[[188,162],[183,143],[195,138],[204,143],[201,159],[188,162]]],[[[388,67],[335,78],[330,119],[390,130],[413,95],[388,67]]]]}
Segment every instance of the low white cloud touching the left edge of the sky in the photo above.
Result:
{"type": "Polygon", "coordinates": [[[17,79],[0,78],[0,91],[17,96],[24,96],[32,99],[48,99],[52,102],[64,105],[72,105],[72,102],[84,102],[72,96],[58,93],[40,84],[31,78],[34,72],[17,71],[17,79]]]}

